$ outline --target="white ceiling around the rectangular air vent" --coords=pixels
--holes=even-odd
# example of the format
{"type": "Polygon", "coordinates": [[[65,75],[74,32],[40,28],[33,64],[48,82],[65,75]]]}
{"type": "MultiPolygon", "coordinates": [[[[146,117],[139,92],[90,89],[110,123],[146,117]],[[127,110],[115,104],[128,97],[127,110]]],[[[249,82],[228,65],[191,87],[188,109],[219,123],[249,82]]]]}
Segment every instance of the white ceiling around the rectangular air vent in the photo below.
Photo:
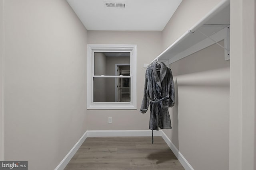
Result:
{"type": "Polygon", "coordinates": [[[182,0],[67,0],[88,30],[162,31],[182,0]],[[105,2],[124,2],[107,8],[105,2]]]}

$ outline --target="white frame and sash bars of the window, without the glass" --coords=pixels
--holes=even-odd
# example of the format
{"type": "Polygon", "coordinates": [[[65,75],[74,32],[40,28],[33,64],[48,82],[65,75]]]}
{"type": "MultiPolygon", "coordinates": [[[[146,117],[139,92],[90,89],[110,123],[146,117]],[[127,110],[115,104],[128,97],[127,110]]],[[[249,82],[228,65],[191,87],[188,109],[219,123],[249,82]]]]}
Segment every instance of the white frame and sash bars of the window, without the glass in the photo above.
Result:
{"type": "MultiPolygon", "coordinates": [[[[88,44],[87,45],[87,109],[137,109],[137,45],[88,44]],[[130,76],[94,75],[95,52],[130,52],[130,76]],[[93,78],[130,78],[130,102],[93,102],[93,78]]],[[[113,94],[115,95],[115,94],[113,94]]]]}

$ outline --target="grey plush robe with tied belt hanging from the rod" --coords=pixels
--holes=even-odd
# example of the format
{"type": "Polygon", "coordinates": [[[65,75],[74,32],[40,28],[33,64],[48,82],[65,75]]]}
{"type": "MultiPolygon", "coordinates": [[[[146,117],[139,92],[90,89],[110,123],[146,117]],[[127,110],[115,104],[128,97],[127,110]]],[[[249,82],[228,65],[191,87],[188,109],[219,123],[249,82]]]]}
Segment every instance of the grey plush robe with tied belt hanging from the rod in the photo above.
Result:
{"type": "Polygon", "coordinates": [[[168,108],[175,104],[174,82],[171,69],[164,63],[155,61],[146,70],[144,95],[140,112],[146,113],[149,104],[149,129],[152,130],[152,133],[153,130],[158,130],[158,128],[172,129],[168,108]],[[160,71],[158,71],[159,68],[160,71]]]}

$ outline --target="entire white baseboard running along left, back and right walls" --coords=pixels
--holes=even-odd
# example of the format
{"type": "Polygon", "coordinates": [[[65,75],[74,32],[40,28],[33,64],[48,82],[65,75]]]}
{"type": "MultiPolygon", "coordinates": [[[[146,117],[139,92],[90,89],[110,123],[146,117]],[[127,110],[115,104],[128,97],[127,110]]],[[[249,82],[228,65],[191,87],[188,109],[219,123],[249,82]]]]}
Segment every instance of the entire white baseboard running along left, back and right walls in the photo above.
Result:
{"type": "MultiPolygon", "coordinates": [[[[74,145],[74,147],[68,152],[68,154],[64,157],[64,159],[58,164],[55,170],[64,170],[67,166],[68,162],[80,148],[82,143],[84,143],[87,137],[145,137],[152,136],[151,130],[127,130],[127,131],[86,131],[84,135],[78,140],[78,142],[74,145]]],[[[172,152],[174,152],[175,156],[178,158],[182,166],[185,170],[194,170],[192,166],[188,163],[188,161],[184,158],[184,156],[180,153],[180,151],[175,147],[175,145],[170,141],[167,135],[162,131],[154,131],[154,136],[161,136],[166,144],[170,147],[172,152]]]]}

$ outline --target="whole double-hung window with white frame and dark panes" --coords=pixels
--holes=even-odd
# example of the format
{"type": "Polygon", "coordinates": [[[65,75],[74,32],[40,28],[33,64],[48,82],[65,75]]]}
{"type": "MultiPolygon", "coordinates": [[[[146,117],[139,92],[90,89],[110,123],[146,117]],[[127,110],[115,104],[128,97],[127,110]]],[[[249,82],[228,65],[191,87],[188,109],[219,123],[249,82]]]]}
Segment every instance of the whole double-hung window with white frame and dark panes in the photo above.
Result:
{"type": "Polygon", "coordinates": [[[136,45],[88,45],[87,109],[136,109],[136,45]]]}

